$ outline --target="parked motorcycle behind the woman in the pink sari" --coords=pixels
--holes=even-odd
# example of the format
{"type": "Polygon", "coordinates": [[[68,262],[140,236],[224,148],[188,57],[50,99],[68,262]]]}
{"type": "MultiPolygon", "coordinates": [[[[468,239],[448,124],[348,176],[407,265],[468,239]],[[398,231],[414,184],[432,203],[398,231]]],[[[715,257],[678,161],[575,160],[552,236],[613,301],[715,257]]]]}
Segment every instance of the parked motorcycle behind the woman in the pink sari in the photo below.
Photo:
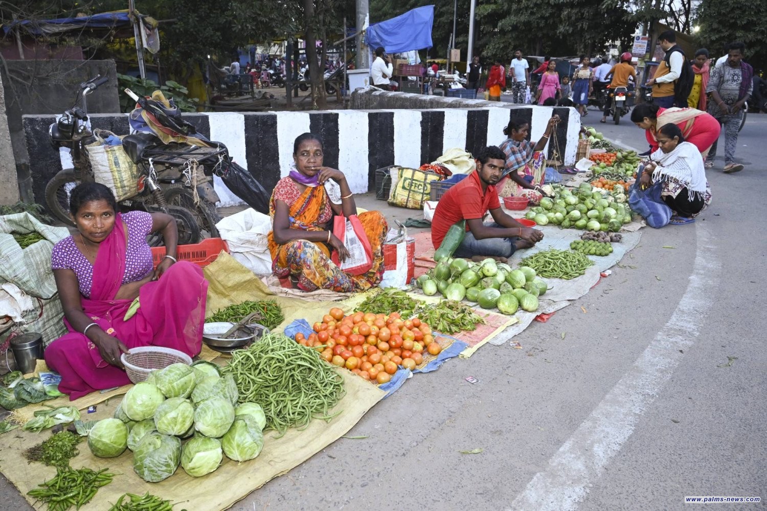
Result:
{"type": "MultiPolygon", "coordinates": [[[[71,151],[73,168],[59,171],[45,187],[48,208],[67,225],[74,225],[68,213],[71,189],[81,182],[94,181],[87,146],[96,138],[87,124],[87,96],[107,81],[106,77],[98,75],[82,83],[74,106],[48,129],[48,138],[54,148],[66,147],[71,151]]],[[[152,103],[156,103],[135,94],[133,99],[144,108],[153,108],[152,103]]],[[[169,123],[171,129],[188,129],[177,126],[160,110],[151,110],[151,113],[158,120],[169,123]]],[[[140,177],[137,195],[120,201],[120,211],[159,211],[173,216],[179,231],[179,244],[199,243],[202,231],[207,231],[209,237],[219,235],[216,229],[216,223],[221,219],[216,212],[219,198],[212,186],[212,171],[207,172],[206,165],[227,159],[225,147],[165,145],[152,133],[128,135],[122,142],[123,150],[137,165],[140,177]]],[[[160,236],[150,238],[153,246],[161,241],[160,236]]]]}

